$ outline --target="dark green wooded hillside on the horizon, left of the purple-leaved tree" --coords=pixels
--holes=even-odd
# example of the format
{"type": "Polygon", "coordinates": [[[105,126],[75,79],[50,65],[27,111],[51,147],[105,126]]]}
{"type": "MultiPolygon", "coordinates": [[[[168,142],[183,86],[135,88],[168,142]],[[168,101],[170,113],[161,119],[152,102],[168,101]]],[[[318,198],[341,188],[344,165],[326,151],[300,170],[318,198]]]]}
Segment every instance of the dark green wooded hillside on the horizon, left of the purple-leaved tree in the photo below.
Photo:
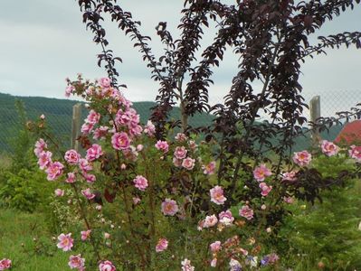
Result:
{"type": "MultiPolygon", "coordinates": [[[[43,97],[15,97],[0,93],[0,153],[11,152],[9,141],[19,131],[19,117],[14,107],[16,99],[24,101],[28,119],[36,119],[40,115],[46,116],[48,124],[65,143],[70,142],[72,107],[78,101],[70,99],[43,98],[43,97]]],[[[150,107],[154,102],[135,102],[134,107],[140,115],[141,123],[145,124],[150,116],[150,107]]],[[[83,109],[82,117],[87,116],[87,109],[83,109]]],[[[179,119],[180,109],[174,108],[171,118],[179,119]]],[[[212,122],[212,116],[199,114],[190,119],[192,126],[208,125],[212,122]]]]}

